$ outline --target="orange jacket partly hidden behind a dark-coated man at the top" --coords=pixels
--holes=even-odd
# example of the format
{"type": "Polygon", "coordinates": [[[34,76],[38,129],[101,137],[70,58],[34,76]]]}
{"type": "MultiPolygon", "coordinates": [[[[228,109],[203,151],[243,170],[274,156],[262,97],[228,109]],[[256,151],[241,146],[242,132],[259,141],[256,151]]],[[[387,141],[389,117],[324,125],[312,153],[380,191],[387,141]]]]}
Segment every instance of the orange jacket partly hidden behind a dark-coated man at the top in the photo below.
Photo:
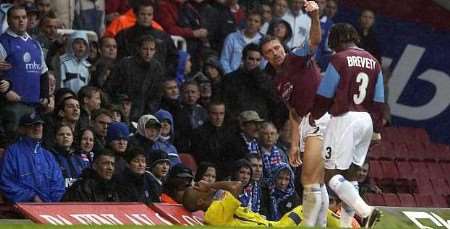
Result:
{"type": "MultiPolygon", "coordinates": [[[[111,24],[106,28],[105,37],[115,37],[120,31],[130,28],[136,24],[136,16],[132,9],[129,9],[125,14],[114,19],[111,24]]],[[[164,31],[160,24],[156,21],[152,21],[152,27],[157,30],[164,31]]]]}

